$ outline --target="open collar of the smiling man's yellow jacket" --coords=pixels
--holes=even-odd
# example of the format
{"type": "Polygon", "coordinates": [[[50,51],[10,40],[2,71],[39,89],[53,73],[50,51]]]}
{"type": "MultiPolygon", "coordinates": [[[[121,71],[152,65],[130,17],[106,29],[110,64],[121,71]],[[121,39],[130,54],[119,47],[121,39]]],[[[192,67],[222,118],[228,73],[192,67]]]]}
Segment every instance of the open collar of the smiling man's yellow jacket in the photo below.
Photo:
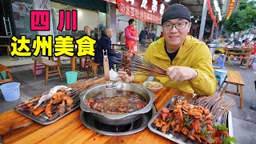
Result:
{"type": "MultiPolygon", "coordinates": [[[[181,57],[184,53],[186,53],[187,50],[190,50],[190,48],[192,47],[191,45],[191,41],[193,41],[193,37],[192,36],[186,36],[185,38],[185,42],[182,44],[182,46],[180,46],[179,50],[178,50],[178,54],[176,55],[176,58],[181,57]]],[[[162,58],[165,60],[169,60],[170,58],[169,56],[166,54],[166,50],[165,50],[165,39],[164,38],[160,38],[158,41],[158,53],[154,53],[154,56],[157,58],[162,58]]]]}

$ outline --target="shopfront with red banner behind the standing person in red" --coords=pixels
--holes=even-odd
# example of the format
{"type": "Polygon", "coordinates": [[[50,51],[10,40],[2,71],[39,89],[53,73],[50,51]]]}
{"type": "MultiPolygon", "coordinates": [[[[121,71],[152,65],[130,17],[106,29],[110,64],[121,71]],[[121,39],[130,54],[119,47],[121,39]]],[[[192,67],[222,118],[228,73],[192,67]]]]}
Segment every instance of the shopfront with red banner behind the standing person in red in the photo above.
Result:
{"type": "MultiPolygon", "coordinates": [[[[161,27],[161,18],[163,11],[169,7],[168,4],[160,0],[106,0],[110,2],[110,5],[118,7],[118,9],[110,11],[114,13],[115,17],[110,18],[110,21],[116,21],[114,28],[116,32],[112,42],[124,42],[124,29],[128,26],[128,21],[130,18],[134,18],[136,21],[136,29],[138,34],[140,31],[144,30],[145,27],[148,27],[149,31],[154,30],[154,34],[157,37],[160,36],[162,27],[161,27]]],[[[113,26],[113,24],[112,24],[113,26]]]]}

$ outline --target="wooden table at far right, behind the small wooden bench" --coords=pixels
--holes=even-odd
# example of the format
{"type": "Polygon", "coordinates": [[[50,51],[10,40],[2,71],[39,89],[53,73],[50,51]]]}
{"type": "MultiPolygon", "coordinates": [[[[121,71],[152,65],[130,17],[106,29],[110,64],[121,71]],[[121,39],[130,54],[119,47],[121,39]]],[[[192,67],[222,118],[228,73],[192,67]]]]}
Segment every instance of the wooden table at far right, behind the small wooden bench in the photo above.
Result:
{"type": "Polygon", "coordinates": [[[250,53],[253,49],[249,49],[249,48],[225,48],[224,50],[226,50],[226,60],[228,58],[231,58],[231,55],[237,55],[238,58],[240,58],[240,62],[242,62],[242,59],[247,59],[246,61],[246,70],[248,70],[249,67],[249,63],[250,63],[250,53]],[[242,53],[236,53],[236,52],[232,52],[230,50],[239,50],[242,51],[242,53]]]}

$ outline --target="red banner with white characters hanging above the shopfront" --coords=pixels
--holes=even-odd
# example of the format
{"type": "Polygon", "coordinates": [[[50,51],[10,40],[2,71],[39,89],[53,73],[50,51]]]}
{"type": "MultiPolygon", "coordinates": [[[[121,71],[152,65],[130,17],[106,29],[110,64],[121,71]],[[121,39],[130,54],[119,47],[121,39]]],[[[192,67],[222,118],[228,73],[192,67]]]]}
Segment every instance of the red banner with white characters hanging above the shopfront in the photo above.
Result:
{"type": "Polygon", "coordinates": [[[160,0],[117,0],[119,13],[146,22],[161,24],[162,14],[169,7],[160,0]]]}

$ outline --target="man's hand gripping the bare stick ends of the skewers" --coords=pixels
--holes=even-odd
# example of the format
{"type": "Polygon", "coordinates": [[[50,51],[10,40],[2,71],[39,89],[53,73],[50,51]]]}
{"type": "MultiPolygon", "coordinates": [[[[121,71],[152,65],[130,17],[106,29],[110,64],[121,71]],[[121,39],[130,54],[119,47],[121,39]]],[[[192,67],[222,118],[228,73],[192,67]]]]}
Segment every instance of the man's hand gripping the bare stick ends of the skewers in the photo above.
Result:
{"type": "Polygon", "coordinates": [[[166,70],[166,75],[174,82],[183,82],[198,77],[198,72],[186,66],[170,66],[166,70]]]}

